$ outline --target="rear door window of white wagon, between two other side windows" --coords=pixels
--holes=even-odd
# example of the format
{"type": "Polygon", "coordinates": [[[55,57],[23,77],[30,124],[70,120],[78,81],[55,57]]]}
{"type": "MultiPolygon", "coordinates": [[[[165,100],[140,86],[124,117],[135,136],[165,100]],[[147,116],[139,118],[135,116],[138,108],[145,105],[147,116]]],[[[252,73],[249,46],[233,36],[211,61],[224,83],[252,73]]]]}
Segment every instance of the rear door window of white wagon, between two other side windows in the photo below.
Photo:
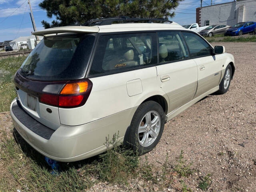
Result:
{"type": "Polygon", "coordinates": [[[189,57],[180,32],[158,32],[159,62],[172,62],[189,57]]]}

